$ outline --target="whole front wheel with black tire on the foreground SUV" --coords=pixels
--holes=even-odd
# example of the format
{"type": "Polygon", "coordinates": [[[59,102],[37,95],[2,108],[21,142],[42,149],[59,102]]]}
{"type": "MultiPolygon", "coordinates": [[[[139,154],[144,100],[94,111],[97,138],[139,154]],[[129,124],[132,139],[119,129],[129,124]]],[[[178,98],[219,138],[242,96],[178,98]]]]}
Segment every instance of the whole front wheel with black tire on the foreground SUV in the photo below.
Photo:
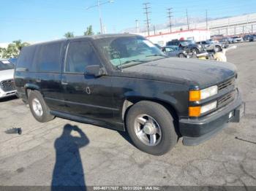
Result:
{"type": "Polygon", "coordinates": [[[151,155],[164,155],[172,149],[178,141],[173,117],[161,104],[151,101],[138,102],[129,109],[126,125],[129,136],[135,144],[135,147],[151,155]],[[152,118],[151,120],[150,117],[152,118]],[[141,120],[142,118],[143,120],[141,120]],[[155,129],[157,129],[156,131],[158,132],[155,133],[155,135],[151,135],[152,137],[155,137],[154,139],[150,139],[151,136],[147,134],[148,131],[146,129],[146,126],[151,124],[150,121],[152,120],[154,127],[157,127],[155,129]],[[140,124],[138,121],[146,123],[142,125],[143,123],[140,124]]]}

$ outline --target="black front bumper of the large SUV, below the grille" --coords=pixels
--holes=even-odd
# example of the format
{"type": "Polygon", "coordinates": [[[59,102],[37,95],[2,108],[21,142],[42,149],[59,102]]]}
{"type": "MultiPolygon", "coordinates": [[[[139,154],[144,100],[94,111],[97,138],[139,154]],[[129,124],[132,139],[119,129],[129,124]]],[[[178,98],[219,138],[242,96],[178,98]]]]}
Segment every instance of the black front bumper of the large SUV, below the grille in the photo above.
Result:
{"type": "Polygon", "coordinates": [[[179,127],[184,145],[197,145],[210,139],[227,126],[227,122],[239,122],[244,114],[245,104],[241,95],[229,105],[202,119],[181,119],[179,127]]]}

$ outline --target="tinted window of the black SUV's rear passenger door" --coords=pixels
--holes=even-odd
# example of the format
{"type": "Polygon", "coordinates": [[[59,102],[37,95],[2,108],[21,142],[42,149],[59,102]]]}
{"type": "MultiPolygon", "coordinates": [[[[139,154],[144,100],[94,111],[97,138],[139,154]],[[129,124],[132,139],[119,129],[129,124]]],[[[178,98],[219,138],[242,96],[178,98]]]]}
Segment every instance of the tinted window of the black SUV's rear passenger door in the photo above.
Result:
{"type": "Polygon", "coordinates": [[[61,42],[38,46],[35,63],[39,71],[61,72],[61,47],[61,42]]]}

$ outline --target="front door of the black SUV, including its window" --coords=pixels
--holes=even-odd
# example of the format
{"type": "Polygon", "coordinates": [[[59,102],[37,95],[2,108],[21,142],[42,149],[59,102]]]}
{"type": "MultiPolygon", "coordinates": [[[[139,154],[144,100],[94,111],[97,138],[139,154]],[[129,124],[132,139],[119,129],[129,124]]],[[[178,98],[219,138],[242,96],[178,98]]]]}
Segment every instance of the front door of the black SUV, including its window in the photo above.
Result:
{"type": "Polygon", "coordinates": [[[85,75],[86,66],[101,65],[89,40],[68,44],[61,84],[66,112],[80,117],[110,121],[113,118],[111,77],[85,75]]]}

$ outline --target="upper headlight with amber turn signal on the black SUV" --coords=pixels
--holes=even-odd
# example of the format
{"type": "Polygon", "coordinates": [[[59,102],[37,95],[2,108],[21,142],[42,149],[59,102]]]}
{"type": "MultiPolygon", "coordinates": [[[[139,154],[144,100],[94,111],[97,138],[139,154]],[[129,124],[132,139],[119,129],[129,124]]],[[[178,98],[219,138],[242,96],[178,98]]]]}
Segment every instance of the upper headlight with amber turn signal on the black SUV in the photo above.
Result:
{"type": "Polygon", "coordinates": [[[218,86],[214,85],[203,90],[190,90],[189,101],[200,101],[218,93],[218,86]]]}

